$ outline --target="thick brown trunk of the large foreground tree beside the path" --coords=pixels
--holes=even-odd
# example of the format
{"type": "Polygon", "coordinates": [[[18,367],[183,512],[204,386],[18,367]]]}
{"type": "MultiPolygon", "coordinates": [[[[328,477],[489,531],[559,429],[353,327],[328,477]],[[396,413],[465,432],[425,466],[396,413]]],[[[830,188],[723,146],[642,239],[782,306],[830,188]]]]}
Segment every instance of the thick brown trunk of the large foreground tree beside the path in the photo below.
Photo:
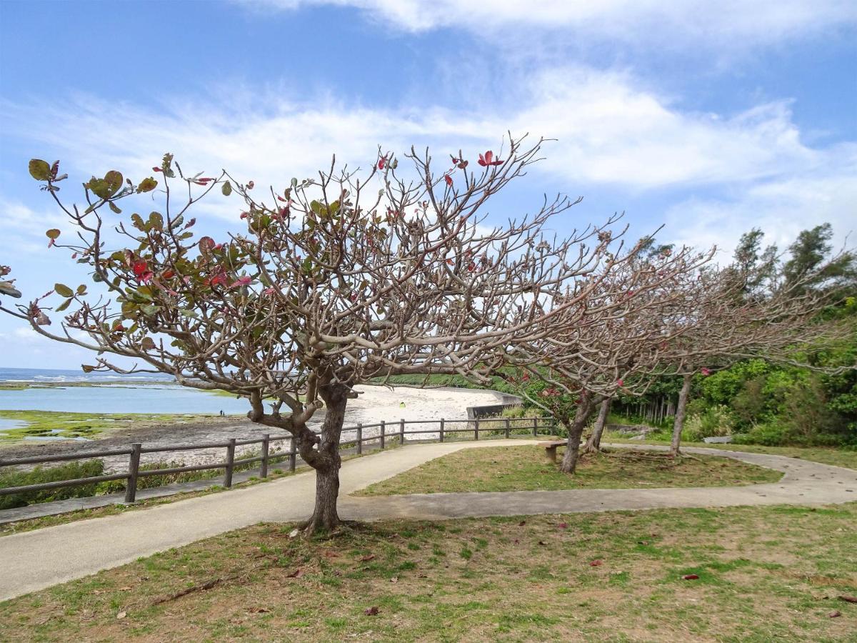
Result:
{"type": "Polygon", "coordinates": [[[327,412],[321,424],[321,442],[310,450],[312,454],[302,457],[315,468],[315,508],[303,526],[306,535],[317,532],[330,532],[339,526],[337,500],[339,498],[339,468],[342,458],[339,455],[339,436],[345,422],[345,406],[348,403],[348,388],[331,385],[319,390],[327,412]],[[309,459],[308,457],[309,456],[309,459]]]}

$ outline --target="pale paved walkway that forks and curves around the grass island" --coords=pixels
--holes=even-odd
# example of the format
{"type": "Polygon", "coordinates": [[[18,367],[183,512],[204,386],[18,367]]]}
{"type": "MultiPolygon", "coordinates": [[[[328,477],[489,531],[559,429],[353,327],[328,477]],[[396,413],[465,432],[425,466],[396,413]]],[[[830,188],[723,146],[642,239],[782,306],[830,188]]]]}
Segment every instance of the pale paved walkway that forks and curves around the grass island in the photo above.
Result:
{"type": "MultiPolygon", "coordinates": [[[[532,440],[410,445],[348,460],[340,475],[339,514],[345,519],[458,518],[565,514],[615,509],[822,505],[857,501],[857,471],[778,455],[687,448],[782,471],[772,484],[690,489],[516,491],[350,497],[428,460],[463,448],[517,446],[532,440]]],[[[620,445],[615,445],[620,446],[620,445]]],[[[635,448],[641,448],[642,445],[635,448]]],[[[652,448],[652,447],[650,447],[652,448]]],[[[656,447],[655,447],[656,448],[656,447]]],[[[135,561],[140,556],[258,522],[303,520],[312,512],[315,474],[299,473],[267,484],[80,520],[0,538],[0,600],[135,561]]]]}

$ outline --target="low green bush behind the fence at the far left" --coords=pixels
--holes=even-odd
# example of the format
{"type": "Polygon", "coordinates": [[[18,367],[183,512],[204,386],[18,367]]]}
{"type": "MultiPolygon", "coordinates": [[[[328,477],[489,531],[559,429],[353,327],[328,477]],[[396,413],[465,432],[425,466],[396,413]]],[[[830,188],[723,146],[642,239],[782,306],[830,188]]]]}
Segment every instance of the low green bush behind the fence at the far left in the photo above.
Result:
{"type": "MultiPolygon", "coordinates": [[[[23,487],[27,484],[43,484],[74,480],[76,478],[93,478],[104,475],[104,462],[101,460],[86,460],[69,462],[67,465],[42,467],[37,466],[32,471],[10,471],[0,473],[0,488],[23,487]]],[[[0,509],[27,507],[37,502],[52,502],[68,498],[85,498],[94,496],[97,484],[81,484],[76,487],[61,487],[44,491],[25,491],[10,496],[0,496],[0,509]]]]}

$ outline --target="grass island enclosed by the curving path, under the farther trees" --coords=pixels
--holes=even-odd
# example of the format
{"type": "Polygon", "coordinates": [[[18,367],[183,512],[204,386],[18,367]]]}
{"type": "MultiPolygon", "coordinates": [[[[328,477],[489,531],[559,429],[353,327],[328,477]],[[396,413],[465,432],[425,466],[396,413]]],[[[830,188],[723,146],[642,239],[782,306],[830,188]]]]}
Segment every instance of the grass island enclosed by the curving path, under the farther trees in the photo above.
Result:
{"type": "Polygon", "coordinates": [[[666,454],[625,450],[584,455],[578,472],[569,476],[545,461],[542,447],[487,447],[429,460],[358,494],[716,487],[770,483],[780,478],[780,472],[730,458],[712,455],[673,460],[666,454]]]}

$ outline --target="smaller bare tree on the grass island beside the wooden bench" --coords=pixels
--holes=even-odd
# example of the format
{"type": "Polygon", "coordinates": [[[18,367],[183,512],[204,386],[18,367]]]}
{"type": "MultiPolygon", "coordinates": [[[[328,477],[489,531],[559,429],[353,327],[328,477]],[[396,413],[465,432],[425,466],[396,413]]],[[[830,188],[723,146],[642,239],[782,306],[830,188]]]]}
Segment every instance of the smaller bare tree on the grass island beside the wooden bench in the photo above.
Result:
{"type": "Polygon", "coordinates": [[[642,394],[654,376],[670,368],[662,355],[686,330],[679,322],[687,284],[713,253],[685,248],[650,255],[648,246],[644,239],[618,267],[597,279],[593,275],[597,287],[590,297],[543,322],[549,334],[514,347],[518,366],[528,371],[526,380],[546,385],[535,395],[526,387],[522,392],[566,428],[563,472],[575,472],[581,436],[596,405],[602,406],[603,427],[617,392],[642,394]]]}

